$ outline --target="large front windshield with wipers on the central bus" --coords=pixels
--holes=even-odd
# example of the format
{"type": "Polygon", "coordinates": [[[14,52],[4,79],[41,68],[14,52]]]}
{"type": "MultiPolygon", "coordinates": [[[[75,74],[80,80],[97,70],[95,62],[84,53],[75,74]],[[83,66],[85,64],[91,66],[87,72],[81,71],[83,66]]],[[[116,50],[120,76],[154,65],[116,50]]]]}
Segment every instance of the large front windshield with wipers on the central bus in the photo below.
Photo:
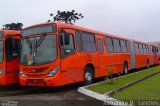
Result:
{"type": "Polygon", "coordinates": [[[57,58],[56,35],[25,38],[21,44],[21,64],[40,65],[57,58]]]}

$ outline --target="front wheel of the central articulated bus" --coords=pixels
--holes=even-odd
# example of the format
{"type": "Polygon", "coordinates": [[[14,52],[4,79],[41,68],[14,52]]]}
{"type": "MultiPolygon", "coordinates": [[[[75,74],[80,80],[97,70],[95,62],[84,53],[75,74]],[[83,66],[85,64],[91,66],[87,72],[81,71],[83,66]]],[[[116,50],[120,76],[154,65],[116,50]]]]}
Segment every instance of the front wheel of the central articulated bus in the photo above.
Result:
{"type": "Polygon", "coordinates": [[[93,69],[91,67],[86,67],[84,73],[84,85],[89,85],[93,83],[93,79],[94,79],[93,69]]]}

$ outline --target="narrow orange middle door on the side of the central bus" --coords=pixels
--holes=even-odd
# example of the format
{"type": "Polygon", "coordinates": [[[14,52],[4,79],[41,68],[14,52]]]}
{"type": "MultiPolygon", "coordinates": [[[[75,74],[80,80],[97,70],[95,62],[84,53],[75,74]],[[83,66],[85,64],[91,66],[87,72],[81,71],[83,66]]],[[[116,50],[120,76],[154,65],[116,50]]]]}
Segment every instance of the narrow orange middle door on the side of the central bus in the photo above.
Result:
{"type": "Polygon", "coordinates": [[[104,38],[103,36],[96,36],[97,42],[97,51],[98,51],[98,67],[99,70],[97,72],[98,76],[105,76],[106,75],[106,68],[105,68],[105,50],[104,50],[104,38]]]}

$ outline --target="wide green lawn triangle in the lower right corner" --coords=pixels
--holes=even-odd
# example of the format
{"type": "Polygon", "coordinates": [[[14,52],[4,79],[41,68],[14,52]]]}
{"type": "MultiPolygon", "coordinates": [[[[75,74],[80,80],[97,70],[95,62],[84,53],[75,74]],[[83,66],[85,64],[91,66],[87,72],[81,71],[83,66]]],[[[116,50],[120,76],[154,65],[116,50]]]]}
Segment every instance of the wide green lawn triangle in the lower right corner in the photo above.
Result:
{"type": "Polygon", "coordinates": [[[160,74],[113,95],[118,100],[160,100],[160,74]]]}

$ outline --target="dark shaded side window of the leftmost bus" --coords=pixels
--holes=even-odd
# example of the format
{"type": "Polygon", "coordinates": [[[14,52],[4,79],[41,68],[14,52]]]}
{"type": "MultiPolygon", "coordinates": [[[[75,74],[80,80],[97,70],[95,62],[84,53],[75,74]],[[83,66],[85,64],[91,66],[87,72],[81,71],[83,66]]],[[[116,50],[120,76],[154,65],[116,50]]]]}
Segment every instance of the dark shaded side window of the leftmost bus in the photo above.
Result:
{"type": "Polygon", "coordinates": [[[13,38],[6,39],[6,55],[8,61],[19,56],[19,41],[13,38]]]}

